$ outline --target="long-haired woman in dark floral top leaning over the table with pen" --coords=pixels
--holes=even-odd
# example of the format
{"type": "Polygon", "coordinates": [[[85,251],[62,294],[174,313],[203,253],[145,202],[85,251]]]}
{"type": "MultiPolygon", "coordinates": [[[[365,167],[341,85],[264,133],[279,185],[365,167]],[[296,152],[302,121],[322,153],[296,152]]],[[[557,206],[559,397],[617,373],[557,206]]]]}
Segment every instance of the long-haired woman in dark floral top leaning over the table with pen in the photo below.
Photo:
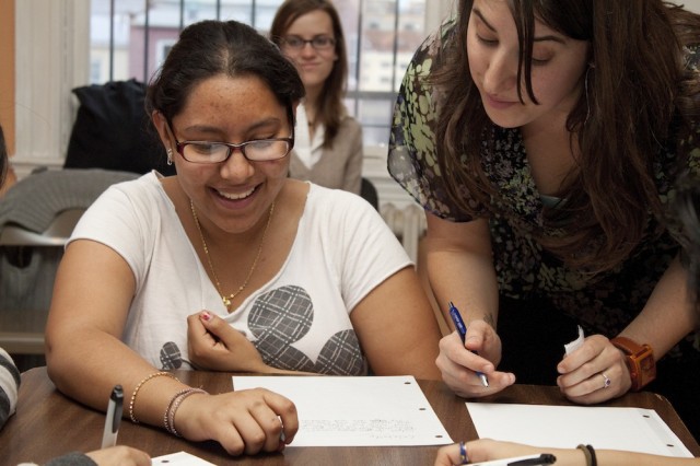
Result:
{"type": "Polygon", "coordinates": [[[479,352],[442,339],[457,394],[517,376],[604,401],[644,387],[654,364],[633,377],[618,347],[649,345],[644,388],[700,434],[697,316],[664,218],[700,167],[699,43],[700,18],[661,0],[462,0],[417,51],[389,171],[427,210],[430,283],[479,352]]]}

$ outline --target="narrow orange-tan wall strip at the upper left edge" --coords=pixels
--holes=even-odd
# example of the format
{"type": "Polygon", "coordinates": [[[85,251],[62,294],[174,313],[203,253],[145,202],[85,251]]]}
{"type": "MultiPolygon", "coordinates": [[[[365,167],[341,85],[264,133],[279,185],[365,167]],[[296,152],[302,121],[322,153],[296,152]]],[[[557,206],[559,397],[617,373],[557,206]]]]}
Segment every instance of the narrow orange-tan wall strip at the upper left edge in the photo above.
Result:
{"type": "Polygon", "coordinates": [[[0,125],[14,153],[14,1],[0,0],[0,125]]]}

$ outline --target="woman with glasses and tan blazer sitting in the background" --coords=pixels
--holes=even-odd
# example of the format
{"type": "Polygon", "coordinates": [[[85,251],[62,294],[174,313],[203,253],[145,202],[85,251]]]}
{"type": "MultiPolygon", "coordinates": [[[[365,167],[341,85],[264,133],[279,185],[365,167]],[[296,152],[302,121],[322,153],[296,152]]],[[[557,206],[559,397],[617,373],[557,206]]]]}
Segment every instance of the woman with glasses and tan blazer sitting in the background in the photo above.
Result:
{"type": "Polygon", "coordinates": [[[342,103],[348,54],[338,11],[329,0],[287,0],[270,39],[292,60],[306,91],[296,109],[290,176],[360,194],[362,127],[342,103]]]}

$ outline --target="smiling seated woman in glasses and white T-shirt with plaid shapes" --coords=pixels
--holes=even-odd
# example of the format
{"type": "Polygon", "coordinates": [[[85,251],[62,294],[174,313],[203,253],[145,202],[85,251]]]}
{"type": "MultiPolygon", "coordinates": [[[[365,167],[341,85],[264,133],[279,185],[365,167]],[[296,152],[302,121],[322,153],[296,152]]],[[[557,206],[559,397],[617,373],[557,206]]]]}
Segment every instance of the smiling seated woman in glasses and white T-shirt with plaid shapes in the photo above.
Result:
{"type": "Polygon", "coordinates": [[[303,95],[252,27],[182,32],[147,94],[177,175],[113,186],[75,228],[46,333],[60,391],[102,409],[121,384],[131,420],[253,454],[292,441],[291,400],[163,371],[440,377],[434,315],[382,218],[287,176],[303,95]]]}

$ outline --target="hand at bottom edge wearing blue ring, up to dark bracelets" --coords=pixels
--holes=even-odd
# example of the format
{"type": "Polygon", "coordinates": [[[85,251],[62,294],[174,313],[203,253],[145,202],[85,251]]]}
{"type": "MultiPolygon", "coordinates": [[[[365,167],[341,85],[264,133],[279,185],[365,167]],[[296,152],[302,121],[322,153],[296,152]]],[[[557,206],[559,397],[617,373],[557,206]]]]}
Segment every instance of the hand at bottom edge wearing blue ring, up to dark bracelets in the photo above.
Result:
{"type": "MultiPolygon", "coordinates": [[[[557,464],[559,464],[559,456],[562,454],[561,451],[556,451],[558,454],[555,453],[553,448],[540,448],[536,446],[522,445],[520,443],[513,442],[501,442],[491,439],[480,439],[471,442],[466,442],[464,445],[464,451],[466,453],[466,459],[468,461],[468,463],[481,463],[492,459],[512,458],[525,455],[538,455],[541,453],[553,453],[558,459],[557,464]]],[[[581,464],[584,464],[583,453],[571,451],[567,452],[567,454],[574,457],[578,454],[581,457],[581,464]]],[[[443,446],[438,451],[438,456],[435,457],[435,466],[452,466],[460,464],[467,463],[463,462],[458,443],[443,446]]],[[[563,462],[563,464],[572,463],[563,462]]]]}

